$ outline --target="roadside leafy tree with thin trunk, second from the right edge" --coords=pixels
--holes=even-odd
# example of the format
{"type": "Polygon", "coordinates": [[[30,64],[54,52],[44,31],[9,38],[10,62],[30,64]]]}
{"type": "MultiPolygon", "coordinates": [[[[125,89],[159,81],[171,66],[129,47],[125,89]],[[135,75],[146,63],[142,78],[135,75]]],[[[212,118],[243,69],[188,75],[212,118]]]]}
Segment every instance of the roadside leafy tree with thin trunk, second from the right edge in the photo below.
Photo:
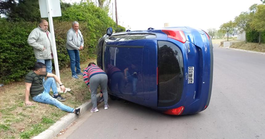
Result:
{"type": "MultiPolygon", "coordinates": [[[[239,33],[243,33],[243,31],[247,31],[250,26],[249,26],[249,21],[250,21],[250,15],[248,12],[241,12],[239,16],[236,16],[234,18],[234,22],[239,30],[239,33]]],[[[245,42],[247,43],[247,35],[245,35],[245,42]]]]}

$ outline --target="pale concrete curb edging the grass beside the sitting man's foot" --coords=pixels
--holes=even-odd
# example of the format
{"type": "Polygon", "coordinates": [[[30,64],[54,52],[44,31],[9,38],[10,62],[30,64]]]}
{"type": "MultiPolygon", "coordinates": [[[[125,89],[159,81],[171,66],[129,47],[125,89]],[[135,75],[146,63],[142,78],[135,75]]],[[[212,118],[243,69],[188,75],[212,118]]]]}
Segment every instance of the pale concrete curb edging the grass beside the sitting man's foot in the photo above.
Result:
{"type": "MultiPolygon", "coordinates": [[[[100,98],[100,94],[97,94],[97,100],[100,98]]],[[[87,110],[90,110],[92,107],[92,102],[82,104],[78,108],[82,108],[82,113],[85,113],[87,110]]],[[[80,116],[82,116],[82,113],[80,116]]],[[[72,122],[76,121],[79,116],[74,113],[69,113],[66,116],[62,117],[59,121],[55,122],[51,127],[40,133],[39,135],[33,137],[32,139],[52,139],[57,136],[63,129],[71,125],[72,122]]]]}

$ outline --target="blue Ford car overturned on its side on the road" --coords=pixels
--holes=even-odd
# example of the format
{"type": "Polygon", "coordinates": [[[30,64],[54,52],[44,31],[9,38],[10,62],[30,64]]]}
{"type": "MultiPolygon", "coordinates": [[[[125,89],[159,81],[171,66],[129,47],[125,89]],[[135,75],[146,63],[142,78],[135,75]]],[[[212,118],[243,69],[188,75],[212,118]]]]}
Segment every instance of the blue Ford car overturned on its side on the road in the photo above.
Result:
{"type": "Polygon", "coordinates": [[[108,94],[170,115],[209,106],[213,46],[190,27],[149,28],[107,34],[97,46],[97,65],[108,75],[108,94]]]}

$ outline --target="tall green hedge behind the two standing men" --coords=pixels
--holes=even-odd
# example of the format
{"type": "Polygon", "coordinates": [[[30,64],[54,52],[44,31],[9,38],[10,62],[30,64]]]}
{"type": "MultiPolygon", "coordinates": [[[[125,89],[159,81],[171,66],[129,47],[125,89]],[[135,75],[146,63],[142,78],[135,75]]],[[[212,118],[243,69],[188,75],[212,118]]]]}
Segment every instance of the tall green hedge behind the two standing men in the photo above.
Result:
{"type": "MultiPolygon", "coordinates": [[[[84,36],[84,50],[80,51],[81,62],[96,56],[98,39],[106,34],[108,27],[113,27],[116,32],[125,31],[124,27],[116,26],[105,11],[93,3],[74,4],[62,12],[62,17],[54,18],[60,69],[70,65],[65,43],[66,33],[73,21],[79,22],[84,36]]],[[[33,48],[27,44],[27,38],[37,26],[37,22],[9,22],[0,18],[0,83],[20,81],[33,69],[36,59],[33,48]]]]}

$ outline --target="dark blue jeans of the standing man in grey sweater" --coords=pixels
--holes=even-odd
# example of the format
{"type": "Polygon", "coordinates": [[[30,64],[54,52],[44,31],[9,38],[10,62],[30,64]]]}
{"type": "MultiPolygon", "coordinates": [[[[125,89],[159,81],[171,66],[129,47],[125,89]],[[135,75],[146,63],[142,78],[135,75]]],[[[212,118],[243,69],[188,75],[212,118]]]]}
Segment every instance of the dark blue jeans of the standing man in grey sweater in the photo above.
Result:
{"type": "Polygon", "coordinates": [[[70,67],[72,71],[72,76],[76,75],[76,73],[81,73],[79,50],[68,50],[68,49],[66,50],[70,58],[70,67]],[[76,68],[76,71],[75,71],[75,68],[76,68]]]}

